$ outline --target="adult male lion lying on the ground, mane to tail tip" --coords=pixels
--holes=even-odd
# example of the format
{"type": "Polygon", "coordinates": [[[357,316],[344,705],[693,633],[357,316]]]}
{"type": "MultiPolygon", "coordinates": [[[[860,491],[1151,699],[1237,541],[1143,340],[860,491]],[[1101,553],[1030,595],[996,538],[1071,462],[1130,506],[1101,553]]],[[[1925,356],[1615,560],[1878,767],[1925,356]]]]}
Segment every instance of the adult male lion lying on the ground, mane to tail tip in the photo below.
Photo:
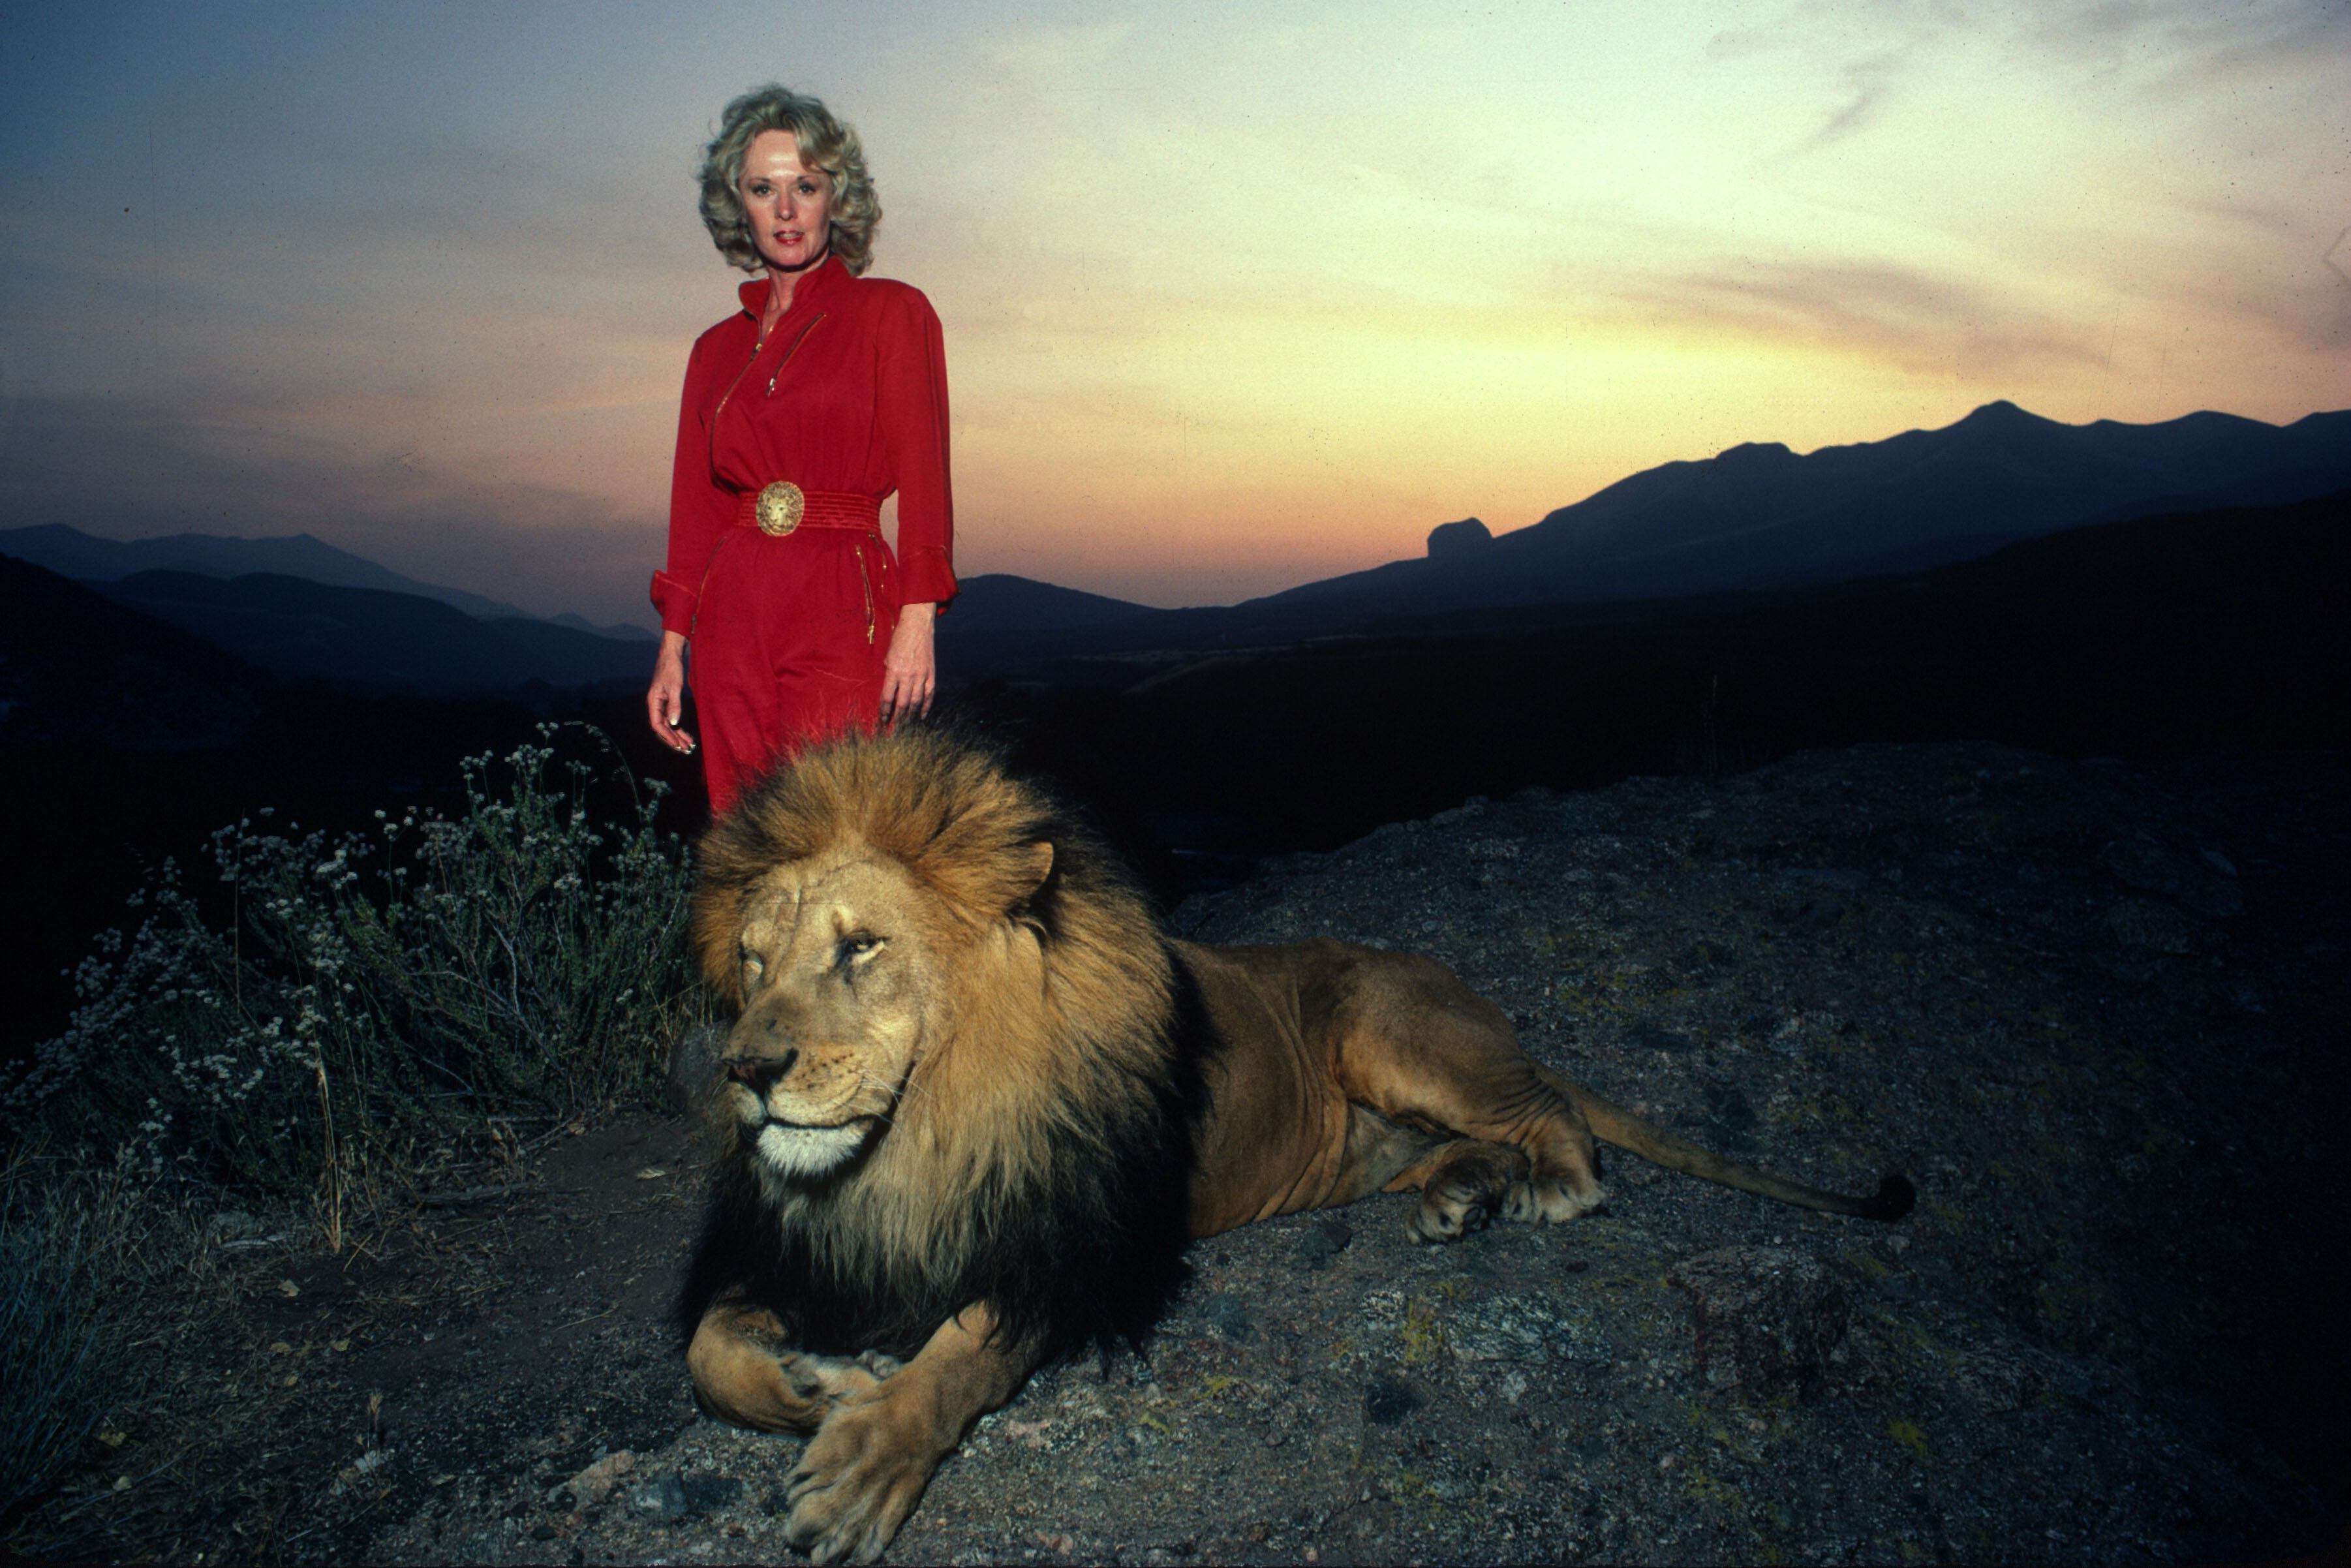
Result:
{"type": "Polygon", "coordinates": [[[686,1363],[712,1415],[816,1434],[788,1533],[818,1561],[879,1556],[1044,1359],[1147,1333],[1192,1237],[1401,1190],[1415,1241],[1568,1220],[1601,1201],[1594,1133],[1909,1208],[1902,1178],[1820,1192],[1596,1100],[1432,959],[1171,940],[1051,799],[936,731],[769,778],[703,839],[694,936],[741,1020],[686,1363]]]}

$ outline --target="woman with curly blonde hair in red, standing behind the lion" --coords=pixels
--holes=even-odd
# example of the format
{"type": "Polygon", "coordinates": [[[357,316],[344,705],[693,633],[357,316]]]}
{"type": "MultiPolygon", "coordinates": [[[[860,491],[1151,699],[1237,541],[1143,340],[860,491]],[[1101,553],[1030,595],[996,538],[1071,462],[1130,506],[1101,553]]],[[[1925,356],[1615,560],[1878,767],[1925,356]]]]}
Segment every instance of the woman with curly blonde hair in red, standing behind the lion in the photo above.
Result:
{"type": "Polygon", "coordinates": [[[654,733],[691,752],[694,649],[712,816],[809,743],[929,712],[938,684],[931,621],[955,597],[947,362],[931,301],[863,275],[879,216],[856,132],[823,103],[762,87],[726,106],[703,223],[766,275],[686,360],[644,693],[654,733]]]}

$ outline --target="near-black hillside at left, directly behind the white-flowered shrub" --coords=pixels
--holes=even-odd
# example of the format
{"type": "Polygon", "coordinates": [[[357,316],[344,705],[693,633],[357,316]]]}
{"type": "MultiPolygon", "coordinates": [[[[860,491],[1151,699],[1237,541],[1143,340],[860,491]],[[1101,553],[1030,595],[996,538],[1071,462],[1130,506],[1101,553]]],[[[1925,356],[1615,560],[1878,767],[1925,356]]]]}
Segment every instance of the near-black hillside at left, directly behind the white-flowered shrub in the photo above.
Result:
{"type": "MultiPolygon", "coordinates": [[[[188,585],[214,595],[240,588],[209,578],[188,585]]],[[[256,585],[273,583],[247,578],[245,590],[256,585]]],[[[329,644],[348,604],[322,609],[320,595],[357,595],[393,599],[395,614],[407,611],[402,625],[428,623],[442,646],[468,630],[480,635],[482,642],[465,646],[484,665],[522,658],[496,628],[433,599],[292,578],[275,585],[280,611],[308,607],[329,644]]],[[[160,588],[148,583],[167,597],[160,588]]],[[[0,832],[0,886],[31,910],[19,912],[14,940],[0,945],[0,994],[12,1001],[0,1020],[0,1070],[66,1025],[68,976],[89,952],[89,938],[136,926],[141,914],[125,910],[122,898],[155,877],[167,856],[193,896],[219,903],[207,905],[212,919],[228,919],[207,839],[240,818],[259,832],[289,825],[374,832],[386,809],[463,811],[461,757],[508,755],[534,741],[545,719],[590,717],[637,778],[661,778],[675,790],[663,802],[663,825],[696,827],[698,762],[644,733],[649,646],[588,639],[538,621],[522,625],[529,637],[555,632],[602,644],[630,670],[621,696],[520,682],[491,696],[284,682],[87,583],[0,557],[0,820],[12,825],[0,832]]],[[[503,675],[515,675],[513,665],[503,675]]],[[[621,809],[609,795],[614,776],[600,757],[592,785],[607,792],[600,809],[621,809]]]]}

